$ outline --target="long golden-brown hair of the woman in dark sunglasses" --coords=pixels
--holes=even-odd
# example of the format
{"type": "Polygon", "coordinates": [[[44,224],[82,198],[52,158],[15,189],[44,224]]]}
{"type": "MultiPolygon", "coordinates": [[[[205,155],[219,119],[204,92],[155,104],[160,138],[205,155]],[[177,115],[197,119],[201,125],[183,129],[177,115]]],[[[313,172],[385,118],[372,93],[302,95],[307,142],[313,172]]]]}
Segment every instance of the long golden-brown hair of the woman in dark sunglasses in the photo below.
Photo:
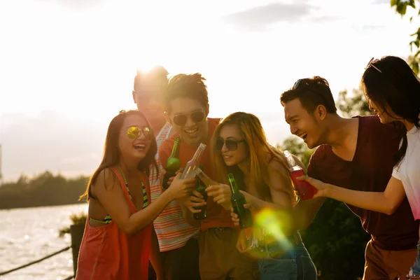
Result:
{"type": "MultiPolygon", "coordinates": [[[[288,163],[286,157],[281,151],[270,146],[267,143],[265,132],[262,129],[260,120],[251,113],[237,112],[232,113],[216,127],[213,138],[211,139],[211,158],[214,164],[214,174],[218,176],[219,182],[228,183],[228,173],[238,172],[238,167],[227,167],[222,158],[221,151],[216,148],[216,141],[220,136],[221,130],[225,125],[237,125],[239,130],[244,134],[244,140],[248,145],[248,166],[249,176],[251,178],[250,193],[256,193],[260,199],[272,201],[269,192],[269,178],[268,178],[268,162],[267,154],[271,155],[272,160],[277,160],[287,170],[288,163]],[[235,170],[236,169],[236,170],[235,170]]],[[[236,179],[236,177],[235,177],[236,179]]],[[[287,190],[290,199],[294,200],[295,193],[293,192],[292,184],[290,183],[290,190],[287,190]]]]}

